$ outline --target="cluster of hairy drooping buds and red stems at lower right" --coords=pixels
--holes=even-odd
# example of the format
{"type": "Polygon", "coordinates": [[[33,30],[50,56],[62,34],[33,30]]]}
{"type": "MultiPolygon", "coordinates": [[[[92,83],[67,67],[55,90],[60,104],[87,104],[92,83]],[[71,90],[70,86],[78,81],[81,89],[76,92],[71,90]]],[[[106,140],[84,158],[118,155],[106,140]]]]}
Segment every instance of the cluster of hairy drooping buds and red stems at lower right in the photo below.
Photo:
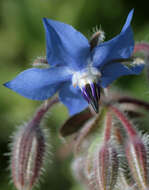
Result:
{"type": "Polygon", "coordinates": [[[85,189],[149,189],[148,136],[118,105],[103,106],[75,135],[72,168],[85,189]]]}

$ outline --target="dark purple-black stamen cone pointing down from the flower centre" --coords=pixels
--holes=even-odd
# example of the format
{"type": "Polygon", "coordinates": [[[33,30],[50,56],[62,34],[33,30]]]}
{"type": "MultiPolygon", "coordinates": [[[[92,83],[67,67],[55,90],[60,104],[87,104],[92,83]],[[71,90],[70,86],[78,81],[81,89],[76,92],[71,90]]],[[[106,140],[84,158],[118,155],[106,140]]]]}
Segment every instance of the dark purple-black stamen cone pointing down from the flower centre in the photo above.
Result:
{"type": "Polygon", "coordinates": [[[96,83],[87,84],[83,89],[88,103],[92,106],[96,113],[99,112],[100,88],[96,83]]]}

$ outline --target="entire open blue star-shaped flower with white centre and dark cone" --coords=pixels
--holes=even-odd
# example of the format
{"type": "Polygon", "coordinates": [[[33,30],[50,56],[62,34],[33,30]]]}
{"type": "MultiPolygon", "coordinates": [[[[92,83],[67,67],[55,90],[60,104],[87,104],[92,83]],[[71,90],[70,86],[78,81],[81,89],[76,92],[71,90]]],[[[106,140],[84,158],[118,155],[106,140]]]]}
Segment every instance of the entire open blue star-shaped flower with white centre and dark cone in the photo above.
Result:
{"type": "Polygon", "coordinates": [[[133,10],[119,35],[94,48],[72,26],[44,18],[49,68],[25,70],[4,85],[33,100],[46,100],[58,92],[71,115],[88,103],[98,112],[100,87],[106,88],[118,77],[139,74],[144,67],[140,64],[128,68],[116,61],[132,55],[132,16],[133,10]]]}

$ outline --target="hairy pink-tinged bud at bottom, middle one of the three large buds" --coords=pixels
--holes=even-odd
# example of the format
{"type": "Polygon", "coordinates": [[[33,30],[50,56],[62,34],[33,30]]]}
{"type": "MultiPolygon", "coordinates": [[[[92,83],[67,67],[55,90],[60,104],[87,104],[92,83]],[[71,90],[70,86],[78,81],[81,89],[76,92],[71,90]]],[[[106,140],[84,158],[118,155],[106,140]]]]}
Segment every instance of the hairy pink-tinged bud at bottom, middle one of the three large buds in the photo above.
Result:
{"type": "Polygon", "coordinates": [[[112,190],[118,177],[119,160],[112,146],[104,144],[95,155],[94,177],[97,189],[112,190]]]}

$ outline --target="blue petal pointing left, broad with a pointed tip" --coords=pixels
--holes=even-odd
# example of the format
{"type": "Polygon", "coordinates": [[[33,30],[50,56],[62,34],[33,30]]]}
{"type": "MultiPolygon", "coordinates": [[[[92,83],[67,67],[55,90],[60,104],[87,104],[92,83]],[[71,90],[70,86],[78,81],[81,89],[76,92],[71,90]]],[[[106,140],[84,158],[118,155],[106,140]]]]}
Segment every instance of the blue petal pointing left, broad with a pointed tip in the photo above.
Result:
{"type": "Polygon", "coordinates": [[[70,77],[65,67],[32,68],[4,85],[26,98],[45,100],[54,95],[61,84],[70,80],[70,77]]]}

